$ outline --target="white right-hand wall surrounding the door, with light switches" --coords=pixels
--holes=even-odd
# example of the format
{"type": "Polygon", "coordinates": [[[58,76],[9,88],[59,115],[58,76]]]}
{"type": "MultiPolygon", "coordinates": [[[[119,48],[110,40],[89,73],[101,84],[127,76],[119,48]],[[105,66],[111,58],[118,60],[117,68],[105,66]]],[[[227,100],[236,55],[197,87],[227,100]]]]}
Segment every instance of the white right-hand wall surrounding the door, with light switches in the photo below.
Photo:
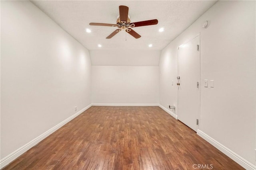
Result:
{"type": "MultiPolygon", "coordinates": [[[[176,104],[177,47],[200,33],[200,131],[255,165],[255,1],[218,1],[161,54],[160,102],[176,104]],[[202,23],[208,20],[207,29],[202,23]],[[214,80],[204,88],[203,80],[214,80]]],[[[178,113],[177,113],[178,114],[178,113]]]]}

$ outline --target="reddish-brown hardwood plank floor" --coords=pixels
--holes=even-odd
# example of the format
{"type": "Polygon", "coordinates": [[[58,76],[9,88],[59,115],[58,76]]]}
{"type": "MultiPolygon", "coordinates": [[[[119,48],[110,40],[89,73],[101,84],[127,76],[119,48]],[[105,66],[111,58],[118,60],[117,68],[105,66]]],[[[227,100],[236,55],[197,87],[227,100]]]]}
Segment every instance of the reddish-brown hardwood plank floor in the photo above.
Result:
{"type": "Polygon", "coordinates": [[[4,170],[243,169],[160,107],[92,106],[4,170]]]}

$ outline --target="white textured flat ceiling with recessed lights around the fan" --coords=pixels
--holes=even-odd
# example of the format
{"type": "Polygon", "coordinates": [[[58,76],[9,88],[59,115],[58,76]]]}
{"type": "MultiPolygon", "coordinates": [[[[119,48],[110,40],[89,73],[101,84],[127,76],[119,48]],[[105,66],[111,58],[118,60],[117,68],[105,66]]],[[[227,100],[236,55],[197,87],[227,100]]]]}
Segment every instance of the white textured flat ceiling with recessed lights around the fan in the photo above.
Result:
{"type": "MultiPolygon", "coordinates": [[[[60,27],[89,50],[119,49],[162,50],[175,37],[191,25],[216,1],[32,1],[60,27]],[[116,23],[118,6],[129,7],[131,22],[157,19],[157,25],[135,27],[142,37],[135,39],[121,31],[111,39],[106,37],[116,27],[91,26],[90,22],[116,23]],[[164,27],[164,32],[158,29],[164,27]],[[85,29],[92,30],[86,33],[85,29]],[[127,37],[127,38],[126,38],[127,37]],[[99,48],[98,44],[102,47],[99,48]]],[[[124,51],[124,53],[126,53],[124,51]]]]}

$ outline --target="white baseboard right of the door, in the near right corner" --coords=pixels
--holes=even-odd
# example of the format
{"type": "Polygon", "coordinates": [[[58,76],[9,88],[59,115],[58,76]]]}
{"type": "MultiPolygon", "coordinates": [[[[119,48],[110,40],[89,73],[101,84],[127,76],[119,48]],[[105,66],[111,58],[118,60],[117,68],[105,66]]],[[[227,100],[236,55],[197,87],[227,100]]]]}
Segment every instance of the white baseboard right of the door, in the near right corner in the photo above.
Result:
{"type": "Polygon", "coordinates": [[[225,147],[224,145],[222,145],[221,143],[219,143],[218,141],[213,139],[212,137],[206,135],[204,132],[202,132],[200,130],[197,130],[196,133],[200,137],[202,137],[204,140],[206,140],[208,143],[212,144],[218,150],[220,150],[221,152],[226,154],[228,157],[230,157],[236,163],[240,164],[246,170],[256,170],[256,166],[254,164],[248,162],[247,160],[245,160],[244,158],[242,158],[241,156],[239,156],[238,154],[236,154],[232,150],[228,149],[227,147],[225,147]]]}

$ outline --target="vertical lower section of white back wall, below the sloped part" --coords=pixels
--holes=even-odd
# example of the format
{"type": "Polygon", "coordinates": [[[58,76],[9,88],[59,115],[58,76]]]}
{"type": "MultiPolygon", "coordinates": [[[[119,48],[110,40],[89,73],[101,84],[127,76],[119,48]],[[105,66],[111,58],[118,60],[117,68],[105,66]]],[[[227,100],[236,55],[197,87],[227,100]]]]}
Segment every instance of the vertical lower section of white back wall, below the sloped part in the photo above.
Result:
{"type": "Polygon", "coordinates": [[[158,104],[158,66],[92,66],[93,104],[158,104]]]}

